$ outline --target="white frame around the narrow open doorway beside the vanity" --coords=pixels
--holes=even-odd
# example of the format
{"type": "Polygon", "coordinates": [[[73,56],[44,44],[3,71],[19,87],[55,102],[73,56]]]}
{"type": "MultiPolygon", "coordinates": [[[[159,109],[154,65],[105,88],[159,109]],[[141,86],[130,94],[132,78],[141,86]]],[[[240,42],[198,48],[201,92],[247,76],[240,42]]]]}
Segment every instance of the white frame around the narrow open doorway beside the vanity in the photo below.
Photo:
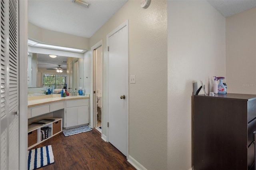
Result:
{"type": "MultiPolygon", "coordinates": [[[[95,107],[95,101],[96,101],[96,93],[94,93],[94,49],[97,49],[98,47],[102,46],[102,54],[101,54],[101,67],[102,67],[102,71],[101,71],[101,87],[102,87],[102,92],[103,92],[103,40],[100,40],[98,43],[96,43],[95,45],[93,45],[91,47],[91,51],[92,51],[92,60],[91,60],[91,77],[92,77],[92,83],[91,83],[91,96],[90,97],[90,125],[92,128],[96,127],[96,124],[95,124],[95,119],[97,120],[97,117],[95,117],[95,109],[97,108],[94,108],[95,107]]],[[[102,97],[101,97],[101,102],[102,102],[102,111],[101,111],[101,114],[102,114],[102,117],[101,117],[101,122],[104,121],[104,116],[103,116],[103,113],[104,113],[104,107],[103,107],[103,97],[104,97],[104,94],[102,93],[102,97]]],[[[101,127],[102,128],[102,133],[101,133],[101,136],[103,135],[103,126],[101,127]]]]}

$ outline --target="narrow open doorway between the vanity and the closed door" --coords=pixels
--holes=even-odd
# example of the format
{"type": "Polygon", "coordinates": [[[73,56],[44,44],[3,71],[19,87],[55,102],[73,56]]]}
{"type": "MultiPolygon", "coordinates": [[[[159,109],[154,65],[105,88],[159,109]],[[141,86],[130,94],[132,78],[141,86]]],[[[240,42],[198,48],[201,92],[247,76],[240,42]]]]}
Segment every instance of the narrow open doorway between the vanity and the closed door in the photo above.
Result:
{"type": "Polygon", "coordinates": [[[102,133],[102,44],[93,49],[94,127],[102,133]]]}

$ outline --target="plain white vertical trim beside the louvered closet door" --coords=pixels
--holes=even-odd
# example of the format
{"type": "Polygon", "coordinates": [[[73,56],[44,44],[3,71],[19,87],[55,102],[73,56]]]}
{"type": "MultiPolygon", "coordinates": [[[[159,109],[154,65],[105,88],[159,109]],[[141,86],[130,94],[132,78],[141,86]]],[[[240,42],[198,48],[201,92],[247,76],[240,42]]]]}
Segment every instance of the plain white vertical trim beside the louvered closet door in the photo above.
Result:
{"type": "Polygon", "coordinates": [[[28,169],[28,1],[19,1],[20,170],[28,169]],[[25,83],[24,83],[25,82],[25,83]]]}

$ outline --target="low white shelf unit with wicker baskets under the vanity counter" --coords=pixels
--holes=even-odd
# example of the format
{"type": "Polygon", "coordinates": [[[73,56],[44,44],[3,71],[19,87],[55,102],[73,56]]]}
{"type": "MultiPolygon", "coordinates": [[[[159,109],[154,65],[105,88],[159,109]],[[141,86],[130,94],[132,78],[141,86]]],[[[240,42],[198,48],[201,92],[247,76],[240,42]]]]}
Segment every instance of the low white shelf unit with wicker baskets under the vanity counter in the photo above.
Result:
{"type": "MultiPolygon", "coordinates": [[[[31,146],[28,146],[28,149],[33,148],[34,146],[40,144],[41,142],[44,142],[45,140],[51,138],[52,136],[55,136],[56,134],[62,132],[62,118],[49,118],[49,119],[55,119],[55,121],[46,123],[44,125],[29,125],[28,126],[28,140],[30,138],[29,135],[33,135],[36,133],[36,143],[33,142],[34,144],[32,144],[31,146]],[[58,124],[60,123],[60,125],[58,124]],[[58,124],[58,125],[57,125],[58,124]],[[44,139],[41,141],[41,128],[43,127],[50,127],[51,130],[48,133],[48,138],[44,139]],[[56,129],[54,129],[54,127],[56,129]]],[[[28,141],[28,144],[30,144],[30,141],[28,141]]]]}

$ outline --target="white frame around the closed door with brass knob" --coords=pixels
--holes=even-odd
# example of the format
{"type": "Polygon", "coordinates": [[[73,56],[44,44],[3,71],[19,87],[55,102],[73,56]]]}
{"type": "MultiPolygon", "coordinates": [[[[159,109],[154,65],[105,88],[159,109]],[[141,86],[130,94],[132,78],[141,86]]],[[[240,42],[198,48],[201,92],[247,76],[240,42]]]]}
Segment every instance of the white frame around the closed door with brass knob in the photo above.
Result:
{"type": "MultiPolygon", "coordinates": [[[[117,28],[115,28],[114,30],[112,30],[112,32],[110,32],[108,35],[107,35],[107,47],[109,45],[109,38],[110,36],[112,36],[113,34],[115,34],[116,32],[118,32],[119,30],[121,30],[122,28],[124,28],[125,26],[127,26],[127,36],[128,36],[128,53],[126,55],[126,63],[127,63],[127,69],[126,69],[126,80],[127,80],[127,89],[126,89],[126,158],[128,159],[128,156],[129,156],[129,22],[128,20],[126,20],[125,22],[123,22],[122,24],[120,24],[117,28]]],[[[108,99],[108,83],[109,83],[109,77],[108,77],[108,74],[109,74],[109,53],[108,53],[108,50],[107,50],[107,59],[106,59],[106,91],[105,91],[105,94],[106,94],[106,99],[108,99]]],[[[106,123],[108,123],[109,121],[109,113],[108,113],[108,109],[109,109],[109,103],[108,103],[108,100],[106,100],[106,109],[105,109],[105,112],[106,112],[106,123]]],[[[106,141],[108,141],[108,128],[106,129],[106,141]]]]}

